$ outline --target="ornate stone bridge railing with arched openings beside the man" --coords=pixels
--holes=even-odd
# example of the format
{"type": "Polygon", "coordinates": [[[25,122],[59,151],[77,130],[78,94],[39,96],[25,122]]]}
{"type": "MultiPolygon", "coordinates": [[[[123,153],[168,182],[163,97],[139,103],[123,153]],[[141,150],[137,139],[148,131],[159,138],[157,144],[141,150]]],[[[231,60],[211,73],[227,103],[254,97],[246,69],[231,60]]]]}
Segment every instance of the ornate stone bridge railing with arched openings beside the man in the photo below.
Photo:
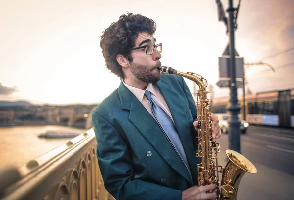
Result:
{"type": "Polygon", "coordinates": [[[1,200],[115,200],[104,188],[93,129],[25,165],[0,169],[1,200]]]}

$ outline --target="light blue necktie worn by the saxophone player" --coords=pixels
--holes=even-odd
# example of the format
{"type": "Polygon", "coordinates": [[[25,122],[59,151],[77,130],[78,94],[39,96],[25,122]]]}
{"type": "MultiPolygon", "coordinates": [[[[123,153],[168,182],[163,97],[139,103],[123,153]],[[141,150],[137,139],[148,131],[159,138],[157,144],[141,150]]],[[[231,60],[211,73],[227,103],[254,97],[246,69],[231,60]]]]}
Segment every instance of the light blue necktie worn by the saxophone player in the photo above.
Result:
{"type": "Polygon", "coordinates": [[[176,127],[171,119],[171,117],[160,107],[158,104],[154,101],[154,99],[151,97],[150,91],[145,91],[145,96],[147,97],[149,101],[149,106],[151,108],[152,113],[154,114],[156,121],[162,131],[165,133],[167,138],[172,143],[173,147],[179,154],[181,160],[186,165],[187,170],[190,172],[189,164],[187,161],[187,157],[183,148],[183,145],[181,143],[181,140],[179,138],[179,135],[177,133],[176,127]]]}

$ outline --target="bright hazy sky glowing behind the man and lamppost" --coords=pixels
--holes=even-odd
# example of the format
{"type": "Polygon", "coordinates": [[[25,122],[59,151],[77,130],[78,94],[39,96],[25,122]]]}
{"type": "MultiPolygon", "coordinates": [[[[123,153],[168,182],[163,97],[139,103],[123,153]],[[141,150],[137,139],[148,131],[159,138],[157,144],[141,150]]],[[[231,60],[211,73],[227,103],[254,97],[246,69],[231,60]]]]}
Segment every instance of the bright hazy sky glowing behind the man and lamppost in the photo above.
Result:
{"type": "MultiPolygon", "coordinates": [[[[228,0],[221,2],[226,10],[228,0]]],[[[103,101],[120,79],[105,66],[100,36],[127,12],[156,22],[162,65],[201,74],[214,97],[229,95],[216,86],[218,57],[229,37],[215,0],[0,0],[0,100],[103,101]]],[[[262,60],[275,68],[247,68],[246,89],[294,88],[294,50],[262,59],[294,47],[294,0],[241,0],[237,24],[235,47],[245,62],[262,60]]],[[[186,83],[193,91],[192,81],[186,83]]]]}

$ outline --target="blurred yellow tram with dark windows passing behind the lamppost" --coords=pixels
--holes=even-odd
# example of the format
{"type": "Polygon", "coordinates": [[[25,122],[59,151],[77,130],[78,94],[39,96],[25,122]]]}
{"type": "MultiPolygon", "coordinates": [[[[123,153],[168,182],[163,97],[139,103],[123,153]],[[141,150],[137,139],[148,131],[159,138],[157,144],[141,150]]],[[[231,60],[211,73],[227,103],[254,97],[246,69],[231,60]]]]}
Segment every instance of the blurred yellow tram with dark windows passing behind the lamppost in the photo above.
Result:
{"type": "MultiPolygon", "coordinates": [[[[243,96],[238,97],[243,115],[243,96]]],[[[229,97],[214,98],[211,111],[215,114],[228,113],[229,97]]],[[[279,127],[294,127],[294,89],[259,92],[245,95],[246,121],[279,127]]]]}

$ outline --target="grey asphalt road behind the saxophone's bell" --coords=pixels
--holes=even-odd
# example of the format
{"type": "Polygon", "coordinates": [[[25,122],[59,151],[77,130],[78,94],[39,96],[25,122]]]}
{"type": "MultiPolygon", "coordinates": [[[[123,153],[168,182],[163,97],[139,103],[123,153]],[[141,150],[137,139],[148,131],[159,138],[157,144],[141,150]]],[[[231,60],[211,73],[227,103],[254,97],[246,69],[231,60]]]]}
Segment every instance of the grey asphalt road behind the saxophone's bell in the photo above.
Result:
{"type": "MultiPolygon", "coordinates": [[[[223,134],[219,163],[226,164],[228,135],[223,134]]],[[[245,173],[238,200],[294,199],[294,129],[250,126],[241,135],[241,153],[257,168],[256,174],[245,173]]]]}

